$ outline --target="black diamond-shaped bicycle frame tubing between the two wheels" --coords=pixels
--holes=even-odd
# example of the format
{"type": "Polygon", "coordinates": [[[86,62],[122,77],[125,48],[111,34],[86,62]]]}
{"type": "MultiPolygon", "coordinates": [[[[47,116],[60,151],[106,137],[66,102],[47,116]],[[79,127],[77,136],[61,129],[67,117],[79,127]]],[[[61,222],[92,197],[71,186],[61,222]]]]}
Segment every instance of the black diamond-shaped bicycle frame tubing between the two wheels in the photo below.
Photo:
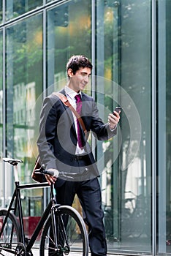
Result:
{"type": "MultiPolygon", "coordinates": [[[[40,188],[40,187],[49,187],[49,184],[47,182],[45,183],[37,183],[37,184],[19,184],[19,181],[15,181],[15,192],[12,195],[12,200],[9,203],[9,208],[7,211],[7,216],[4,219],[4,223],[6,222],[6,219],[9,217],[9,212],[14,211],[14,214],[16,214],[16,211],[18,209],[18,219],[20,223],[20,242],[24,244],[26,247],[26,252],[30,252],[34,242],[37,239],[37,236],[39,235],[40,230],[42,230],[42,227],[45,223],[45,219],[47,219],[48,215],[50,214],[50,210],[52,208],[55,208],[56,206],[59,206],[56,204],[56,198],[54,196],[54,185],[52,184],[50,186],[51,190],[51,200],[50,203],[48,203],[47,208],[45,208],[45,211],[39,219],[39,222],[37,224],[37,227],[34,230],[34,233],[32,234],[31,238],[26,242],[26,236],[24,233],[24,226],[23,226],[23,209],[21,204],[21,198],[20,198],[20,189],[31,189],[31,188],[40,188]],[[13,204],[15,203],[15,207],[13,207],[13,204]]],[[[1,233],[3,233],[4,227],[1,227],[0,237],[1,233]]]]}

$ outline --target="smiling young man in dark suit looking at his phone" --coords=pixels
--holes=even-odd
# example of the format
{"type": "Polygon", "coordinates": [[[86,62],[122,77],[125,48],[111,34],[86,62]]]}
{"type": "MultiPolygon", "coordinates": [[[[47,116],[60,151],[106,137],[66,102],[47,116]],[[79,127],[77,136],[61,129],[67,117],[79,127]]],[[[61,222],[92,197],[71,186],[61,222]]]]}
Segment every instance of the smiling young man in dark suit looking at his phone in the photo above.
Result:
{"type": "Polygon", "coordinates": [[[88,225],[91,255],[100,256],[107,255],[104,213],[99,172],[87,139],[90,131],[98,140],[112,138],[116,134],[120,116],[116,112],[115,115],[110,113],[108,123],[104,124],[99,118],[94,99],[83,93],[92,68],[85,56],[72,56],[66,65],[68,83],[61,91],[75,109],[76,105],[82,108],[80,116],[86,134],[70,108],[56,94],[51,94],[43,102],[37,146],[42,165],[46,170],[57,173],[55,176],[46,175],[46,179],[49,184],[55,184],[58,203],[72,206],[77,194],[88,225]],[[66,175],[60,176],[60,173],[66,175]]]}

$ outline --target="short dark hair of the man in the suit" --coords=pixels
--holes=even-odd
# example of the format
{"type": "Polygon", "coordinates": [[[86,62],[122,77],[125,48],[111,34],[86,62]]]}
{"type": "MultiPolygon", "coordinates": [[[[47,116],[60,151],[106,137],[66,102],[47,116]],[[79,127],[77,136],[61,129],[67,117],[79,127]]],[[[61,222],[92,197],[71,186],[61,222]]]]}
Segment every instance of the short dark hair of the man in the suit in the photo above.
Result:
{"type": "Polygon", "coordinates": [[[93,65],[91,64],[91,61],[89,61],[88,58],[86,58],[83,55],[74,55],[72,56],[68,63],[66,64],[66,72],[68,72],[68,69],[72,69],[73,74],[77,72],[77,70],[80,69],[80,67],[89,67],[90,69],[93,68],[93,65]]]}

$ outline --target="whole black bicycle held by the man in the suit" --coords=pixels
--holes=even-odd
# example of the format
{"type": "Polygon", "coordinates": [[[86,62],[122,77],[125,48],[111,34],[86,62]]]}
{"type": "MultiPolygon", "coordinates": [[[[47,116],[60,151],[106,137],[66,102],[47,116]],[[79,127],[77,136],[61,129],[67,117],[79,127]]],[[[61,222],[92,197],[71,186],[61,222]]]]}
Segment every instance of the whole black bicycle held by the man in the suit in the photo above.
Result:
{"type": "MultiPolygon", "coordinates": [[[[0,255],[33,256],[31,249],[42,230],[39,255],[80,255],[88,256],[88,234],[80,214],[71,206],[61,206],[56,202],[54,185],[44,183],[20,184],[17,165],[20,159],[4,158],[15,167],[15,191],[8,208],[0,209],[0,255]],[[45,208],[32,236],[24,233],[23,211],[20,198],[21,189],[50,187],[50,203],[45,208]],[[73,254],[74,253],[74,254],[73,254]]],[[[39,173],[39,170],[37,170],[39,173]]],[[[47,174],[47,171],[41,171],[47,174]]],[[[51,173],[50,173],[51,174],[51,173]]],[[[63,173],[64,175],[64,173],[63,173]]]]}

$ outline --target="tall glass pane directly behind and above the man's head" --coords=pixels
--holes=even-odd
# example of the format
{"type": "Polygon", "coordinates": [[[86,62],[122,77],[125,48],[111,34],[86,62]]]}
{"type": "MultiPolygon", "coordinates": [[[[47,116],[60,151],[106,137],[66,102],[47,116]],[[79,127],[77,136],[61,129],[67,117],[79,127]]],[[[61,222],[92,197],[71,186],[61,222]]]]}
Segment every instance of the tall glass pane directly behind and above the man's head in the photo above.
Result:
{"type": "Polygon", "coordinates": [[[47,85],[51,86],[48,94],[66,83],[66,62],[73,54],[91,58],[90,0],[69,1],[47,11],[47,85]]]}

